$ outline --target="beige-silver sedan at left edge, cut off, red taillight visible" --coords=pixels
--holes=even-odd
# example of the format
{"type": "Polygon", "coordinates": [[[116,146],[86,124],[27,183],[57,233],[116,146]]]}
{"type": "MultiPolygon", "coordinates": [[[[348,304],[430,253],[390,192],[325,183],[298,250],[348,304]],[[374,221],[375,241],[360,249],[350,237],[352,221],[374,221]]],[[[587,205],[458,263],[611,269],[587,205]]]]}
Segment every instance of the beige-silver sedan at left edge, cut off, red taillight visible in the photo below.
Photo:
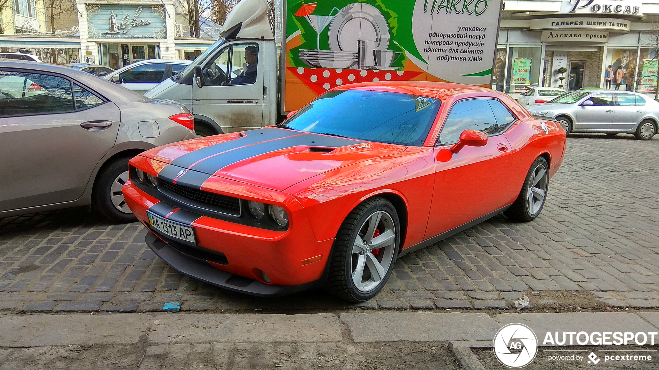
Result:
{"type": "Polygon", "coordinates": [[[92,204],[118,222],[128,161],[195,137],[185,106],[53,64],[0,61],[0,218],[92,204]]]}

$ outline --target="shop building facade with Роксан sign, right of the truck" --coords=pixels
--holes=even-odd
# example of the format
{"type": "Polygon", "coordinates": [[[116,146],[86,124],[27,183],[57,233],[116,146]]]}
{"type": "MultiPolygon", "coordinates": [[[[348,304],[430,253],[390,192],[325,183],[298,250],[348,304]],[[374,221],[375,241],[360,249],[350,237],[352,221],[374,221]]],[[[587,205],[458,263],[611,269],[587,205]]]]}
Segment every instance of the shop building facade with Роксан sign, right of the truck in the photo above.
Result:
{"type": "Polygon", "coordinates": [[[534,86],[654,97],[658,41],[659,0],[503,1],[492,88],[514,97],[534,86]]]}

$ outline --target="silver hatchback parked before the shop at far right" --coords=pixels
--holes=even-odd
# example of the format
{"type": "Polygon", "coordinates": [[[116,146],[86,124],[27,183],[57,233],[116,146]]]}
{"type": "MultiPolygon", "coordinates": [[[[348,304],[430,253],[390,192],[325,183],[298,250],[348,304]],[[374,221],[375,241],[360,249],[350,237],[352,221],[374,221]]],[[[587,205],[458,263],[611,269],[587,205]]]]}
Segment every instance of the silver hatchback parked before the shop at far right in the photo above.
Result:
{"type": "Polygon", "coordinates": [[[639,140],[652,139],[659,122],[659,103],[631,91],[573,91],[527,110],[555,118],[567,133],[633,133],[639,140]]]}

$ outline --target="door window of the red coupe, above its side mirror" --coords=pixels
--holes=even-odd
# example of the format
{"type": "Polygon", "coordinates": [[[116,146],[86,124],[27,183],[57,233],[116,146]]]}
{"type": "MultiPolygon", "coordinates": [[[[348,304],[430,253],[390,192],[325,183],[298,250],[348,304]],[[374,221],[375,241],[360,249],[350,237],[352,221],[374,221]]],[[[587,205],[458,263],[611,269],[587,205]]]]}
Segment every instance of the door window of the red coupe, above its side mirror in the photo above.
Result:
{"type": "Polygon", "coordinates": [[[475,129],[487,135],[499,132],[488,99],[469,99],[453,104],[438,143],[455,143],[465,129],[475,129]]]}

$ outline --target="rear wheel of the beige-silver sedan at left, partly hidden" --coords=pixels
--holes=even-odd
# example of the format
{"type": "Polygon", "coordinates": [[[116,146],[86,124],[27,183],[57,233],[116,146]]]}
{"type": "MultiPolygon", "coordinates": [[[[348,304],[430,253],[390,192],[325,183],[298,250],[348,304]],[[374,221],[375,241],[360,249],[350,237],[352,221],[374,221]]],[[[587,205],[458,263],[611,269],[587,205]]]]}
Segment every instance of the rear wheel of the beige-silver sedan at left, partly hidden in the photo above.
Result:
{"type": "Polygon", "coordinates": [[[128,157],[117,158],[105,164],[96,176],[92,190],[92,207],[117,223],[137,221],[121,193],[121,187],[129,178],[129,160],[128,157]]]}

